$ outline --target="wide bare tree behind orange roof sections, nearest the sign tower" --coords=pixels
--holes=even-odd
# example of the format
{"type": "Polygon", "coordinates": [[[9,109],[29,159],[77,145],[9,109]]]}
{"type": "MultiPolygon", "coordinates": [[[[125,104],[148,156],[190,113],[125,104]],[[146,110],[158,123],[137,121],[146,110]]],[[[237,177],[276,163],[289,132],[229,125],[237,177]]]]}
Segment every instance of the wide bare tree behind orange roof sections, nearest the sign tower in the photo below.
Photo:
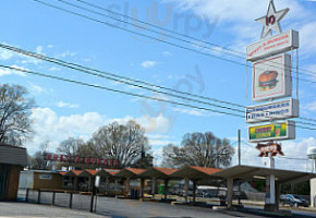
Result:
{"type": "Polygon", "coordinates": [[[163,166],[181,168],[184,166],[228,167],[234,154],[229,140],[220,140],[211,132],[187,133],[182,145],[163,147],[163,166]]]}

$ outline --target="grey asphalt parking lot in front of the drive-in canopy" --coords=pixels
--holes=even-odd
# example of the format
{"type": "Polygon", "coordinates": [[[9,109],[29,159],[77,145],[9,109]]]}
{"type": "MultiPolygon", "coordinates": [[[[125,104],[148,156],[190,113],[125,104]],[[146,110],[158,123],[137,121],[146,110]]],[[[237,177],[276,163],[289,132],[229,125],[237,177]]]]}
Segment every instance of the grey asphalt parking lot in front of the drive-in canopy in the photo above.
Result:
{"type": "MultiPolygon", "coordinates": [[[[33,203],[37,202],[36,192],[29,194],[29,201],[33,203]]],[[[73,195],[72,208],[69,207],[70,194],[58,193],[56,195],[56,205],[57,207],[48,206],[51,204],[52,194],[51,193],[41,193],[40,203],[44,205],[36,204],[20,204],[21,209],[14,208],[16,204],[5,203],[7,205],[3,208],[3,204],[0,203],[0,217],[14,217],[14,213],[16,211],[26,211],[24,207],[38,207],[39,210],[34,209],[31,211],[45,211],[42,208],[50,208],[52,210],[56,209],[56,213],[64,213],[64,211],[78,211],[85,210],[87,213],[86,217],[92,217],[89,214],[90,209],[90,196],[89,195],[73,195]],[[13,207],[10,209],[10,207],[13,207]],[[63,207],[63,208],[61,208],[63,207]],[[60,211],[62,209],[62,211],[60,211]],[[11,211],[14,211],[13,215],[11,211]]],[[[22,198],[21,198],[22,199],[22,198]]],[[[113,217],[113,218],[125,218],[125,217],[137,217],[137,218],[204,218],[204,217],[276,217],[271,214],[265,214],[259,207],[247,207],[241,211],[229,211],[229,210],[214,210],[211,206],[208,207],[196,207],[196,206],[187,206],[187,205],[171,205],[170,203],[160,203],[160,202],[141,202],[134,199],[120,199],[114,197],[98,197],[96,201],[96,214],[105,216],[105,217],[113,217]]],[[[84,211],[83,211],[84,213],[84,211]]],[[[23,215],[27,217],[24,213],[23,215]]],[[[41,214],[42,215],[42,214],[41,214]]],[[[61,214],[63,217],[63,214],[61,214]]],[[[33,214],[31,214],[32,217],[33,214]]],[[[51,215],[41,216],[41,217],[50,217],[51,215]]],[[[23,216],[15,216],[23,217],[23,216]]],[[[59,216],[60,217],[60,216],[59,216]]],[[[75,216],[77,217],[77,216],[75,216]]],[[[294,210],[292,217],[316,217],[315,211],[302,211],[294,210]]]]}

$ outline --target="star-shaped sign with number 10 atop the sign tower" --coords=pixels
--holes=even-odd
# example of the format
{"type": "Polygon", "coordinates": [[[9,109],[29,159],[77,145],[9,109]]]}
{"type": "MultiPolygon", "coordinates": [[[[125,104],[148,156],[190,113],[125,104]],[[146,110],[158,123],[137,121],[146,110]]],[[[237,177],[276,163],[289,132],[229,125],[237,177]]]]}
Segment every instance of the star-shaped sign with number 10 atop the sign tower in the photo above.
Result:
{"type": "Polygon", "coordinates": [[[283,9],[281,11],[276,10],[274,0],[270,1],[268,13],[266,16],[255,20],[264,25],[262,38],[265,38],[269,33],[272,35],[272,31],[282,33],[280,21],[285,16],[290,9],[283,9]]]}

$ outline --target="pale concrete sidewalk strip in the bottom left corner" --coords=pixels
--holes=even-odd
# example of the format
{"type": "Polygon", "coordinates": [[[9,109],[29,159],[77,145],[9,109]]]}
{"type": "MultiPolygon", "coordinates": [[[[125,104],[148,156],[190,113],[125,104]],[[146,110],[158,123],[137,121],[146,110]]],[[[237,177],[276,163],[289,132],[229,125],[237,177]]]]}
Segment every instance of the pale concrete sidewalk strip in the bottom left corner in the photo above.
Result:
{"type": "Polygon", "coordinates": [[[1,218],[110,218],[108,216],[100,216],[90,214],[88,211],[52,207],[37,204],[15,203],[15,202],[0,202],[0,217],[1,218]]]}

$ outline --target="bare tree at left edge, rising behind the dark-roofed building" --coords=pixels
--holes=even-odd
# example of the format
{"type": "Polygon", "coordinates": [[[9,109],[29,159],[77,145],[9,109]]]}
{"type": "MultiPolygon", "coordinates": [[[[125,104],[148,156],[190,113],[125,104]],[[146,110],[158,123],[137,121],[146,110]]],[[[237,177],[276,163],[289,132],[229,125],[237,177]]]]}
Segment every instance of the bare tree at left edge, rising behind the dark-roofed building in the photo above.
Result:
{"type": "Polygon", "coordinates": [[[20,85],[0,85],[0,142],[22,146],[32,133],[34,100],[20,85]]]}

